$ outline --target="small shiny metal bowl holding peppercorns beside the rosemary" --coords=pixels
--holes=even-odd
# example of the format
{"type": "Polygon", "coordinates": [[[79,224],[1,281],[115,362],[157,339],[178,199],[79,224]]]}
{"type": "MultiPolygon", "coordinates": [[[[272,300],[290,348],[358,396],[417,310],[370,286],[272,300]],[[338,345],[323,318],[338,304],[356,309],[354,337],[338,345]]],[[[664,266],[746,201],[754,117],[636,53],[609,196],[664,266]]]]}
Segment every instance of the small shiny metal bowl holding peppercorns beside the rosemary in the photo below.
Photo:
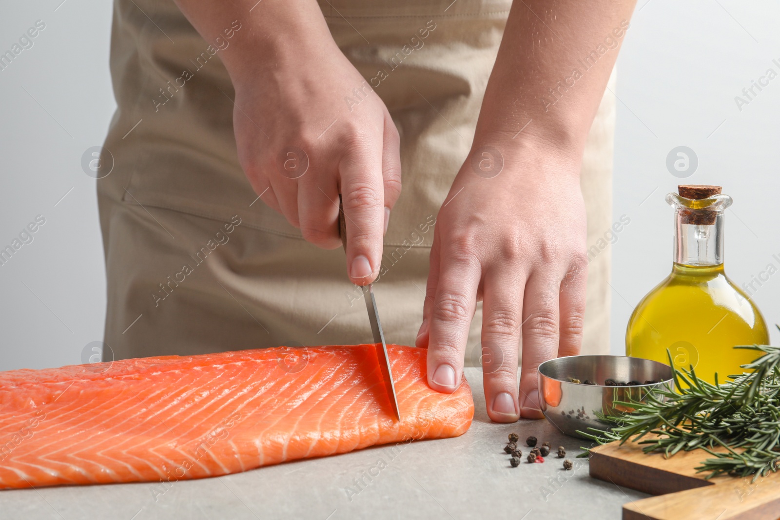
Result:
{"type": "Polygon", "coordinates": [[[616,417],[633,409],[615,405],[615,401],[640,401],[655,389],[674,387],[672,369],[658,361],[627,356],[566,356],[539,365],[539,402],[550,423],[571,437],[582,436],[577,430],[609,430],[610,424],[598,419],[601,412],[616,417]],[[661,381],[656,384],[605,386],[615,381],[661,381]],[[572,383],[572,379],[591,380],[601,384],[572,383]]]}

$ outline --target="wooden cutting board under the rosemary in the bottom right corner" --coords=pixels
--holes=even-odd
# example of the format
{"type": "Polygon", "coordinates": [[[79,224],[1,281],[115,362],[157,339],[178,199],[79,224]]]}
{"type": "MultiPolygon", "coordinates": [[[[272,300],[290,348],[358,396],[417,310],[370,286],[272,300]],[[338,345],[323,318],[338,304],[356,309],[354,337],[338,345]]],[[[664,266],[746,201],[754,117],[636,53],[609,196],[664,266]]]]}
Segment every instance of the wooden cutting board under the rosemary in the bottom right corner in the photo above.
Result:
{"type": "Polygon", "coordinates": [[[623,505],[623,520],[778,520],[780,472],[759,477],[719,476],[705,480],[694,469],[704,450],[671,458],[645,455],[642,446],[612,442],[590,450],[590,476],[658,495],[623,505]]]}

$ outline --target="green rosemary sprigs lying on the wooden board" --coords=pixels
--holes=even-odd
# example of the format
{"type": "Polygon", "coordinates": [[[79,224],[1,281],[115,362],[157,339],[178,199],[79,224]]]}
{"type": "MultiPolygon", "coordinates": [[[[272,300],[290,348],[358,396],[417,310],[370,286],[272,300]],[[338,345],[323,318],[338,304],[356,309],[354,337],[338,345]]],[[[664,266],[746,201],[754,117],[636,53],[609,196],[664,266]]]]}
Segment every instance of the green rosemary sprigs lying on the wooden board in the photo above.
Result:
{"type": "MultiPolygon", "coordinates": [[[[780,328],[780,326],[778,326],[780,328]]],[[[736,346],[764,352],[753,363],[742,365],[746,373],[729,376],[715,384],[700,380],[693,366],[674,370],[675,387],[656,390],[645,402],[615,401],[634,409],[621,416],[599,418],[611,431],[588,428],[584,437],[605,444],[621,444],[636,436],[645,453],[661,452],[666,457],[678,451],[701,448],[707,458],[697,472],[709,472],[710,479],[723,473],[732,476],[767,476],[780,469],[780,347],[736,346]],[[643,439],[647,434],[656,437],[643,439]],[[725,452],[714,451],[725,448],[725,452]]],[[[669,356],[669,366],[672,356],[669,356]]],[[[586,448],[587,449],[587,448],[586,448]]],[[[584,456],[587,456],[587,451],[584,456]]]]}

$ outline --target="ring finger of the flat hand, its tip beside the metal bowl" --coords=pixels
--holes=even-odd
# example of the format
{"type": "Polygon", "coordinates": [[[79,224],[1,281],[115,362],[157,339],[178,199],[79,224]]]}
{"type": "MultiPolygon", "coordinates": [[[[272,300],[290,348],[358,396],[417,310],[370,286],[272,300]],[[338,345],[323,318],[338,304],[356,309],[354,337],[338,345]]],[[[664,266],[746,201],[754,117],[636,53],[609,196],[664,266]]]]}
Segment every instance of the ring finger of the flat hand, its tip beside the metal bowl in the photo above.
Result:
{"type": "Polygon", "coordinates": [[[554,272],[531,274],[523,295],[523,363],[520,366],[520,416],[541,419],[537,368],[558,354],[558,288],[554,272]]]}

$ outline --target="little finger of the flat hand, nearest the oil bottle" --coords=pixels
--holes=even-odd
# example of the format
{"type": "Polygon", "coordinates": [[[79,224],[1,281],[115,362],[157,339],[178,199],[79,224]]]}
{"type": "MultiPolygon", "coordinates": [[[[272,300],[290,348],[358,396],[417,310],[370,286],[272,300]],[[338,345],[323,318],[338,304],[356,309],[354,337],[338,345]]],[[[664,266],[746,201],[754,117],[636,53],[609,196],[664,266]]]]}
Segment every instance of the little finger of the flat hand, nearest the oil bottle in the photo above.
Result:
{"type": "Polygon", "coordinates": [[[576,260],[563,276],[560,292],[561,338],[558,357],[580,353],[585,324],[585,290],[587,287],[587,256],[576,260]]]}

